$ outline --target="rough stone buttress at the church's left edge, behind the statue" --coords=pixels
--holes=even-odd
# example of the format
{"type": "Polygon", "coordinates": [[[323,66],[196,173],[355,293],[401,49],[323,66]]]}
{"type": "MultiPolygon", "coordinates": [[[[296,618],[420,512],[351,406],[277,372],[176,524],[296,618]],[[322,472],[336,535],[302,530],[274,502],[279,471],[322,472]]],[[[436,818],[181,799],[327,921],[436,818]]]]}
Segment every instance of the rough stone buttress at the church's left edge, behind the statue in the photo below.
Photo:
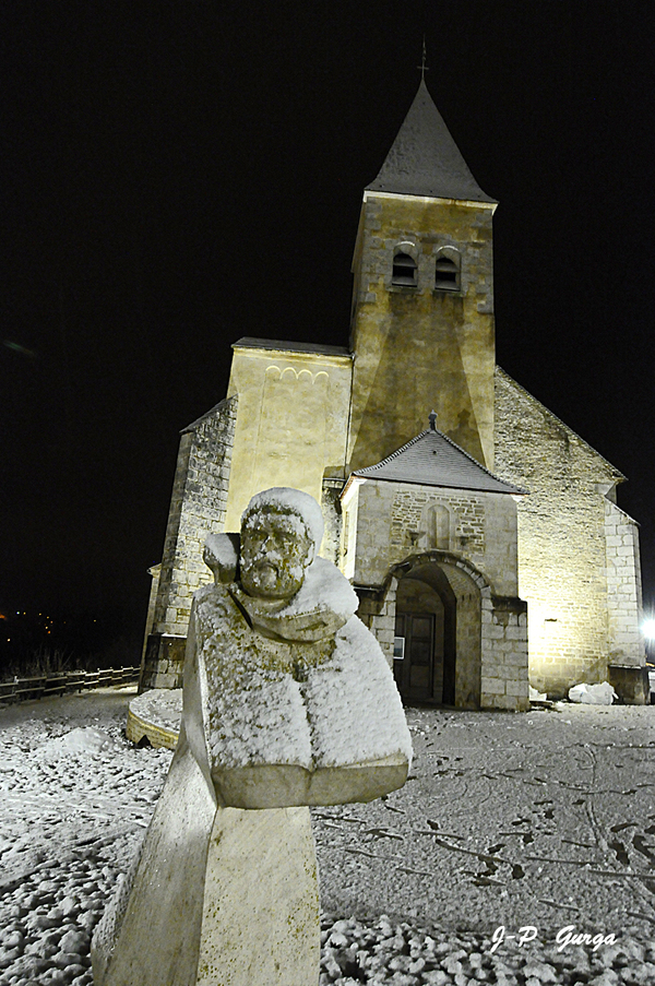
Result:
{"type": "Polygon", "coordinates": [[[222,401],[182,432],[142,689],[181,685],[193,593],[212,578],[204,540],[225,526],[236,412],[236,397],[222,401]]]}

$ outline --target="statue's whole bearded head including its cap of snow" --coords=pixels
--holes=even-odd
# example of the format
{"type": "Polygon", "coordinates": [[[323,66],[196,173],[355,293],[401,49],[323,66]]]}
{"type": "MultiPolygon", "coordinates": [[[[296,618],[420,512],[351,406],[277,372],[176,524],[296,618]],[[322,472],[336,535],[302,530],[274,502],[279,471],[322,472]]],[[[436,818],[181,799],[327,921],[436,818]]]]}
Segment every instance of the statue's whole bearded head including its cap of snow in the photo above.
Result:
{"type": "Polygon", "coordinates": [[[241,518],[241,585],[262,599],[289,599],[323,539],[323,514],[309,494],[278,486],[255,494],[241,518]]]}

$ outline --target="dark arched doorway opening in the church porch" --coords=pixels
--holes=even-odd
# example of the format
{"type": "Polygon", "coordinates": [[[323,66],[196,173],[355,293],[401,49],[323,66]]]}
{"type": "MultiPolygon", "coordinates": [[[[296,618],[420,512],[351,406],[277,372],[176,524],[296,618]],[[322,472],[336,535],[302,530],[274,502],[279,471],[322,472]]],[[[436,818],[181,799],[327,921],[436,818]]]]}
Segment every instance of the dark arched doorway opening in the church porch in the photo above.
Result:
{"type": "Polygon", "coordinates": [[[395,569],[394,676],[407,702],[479,709],[481,595],[475,569],[430,553],[395,569]]]}

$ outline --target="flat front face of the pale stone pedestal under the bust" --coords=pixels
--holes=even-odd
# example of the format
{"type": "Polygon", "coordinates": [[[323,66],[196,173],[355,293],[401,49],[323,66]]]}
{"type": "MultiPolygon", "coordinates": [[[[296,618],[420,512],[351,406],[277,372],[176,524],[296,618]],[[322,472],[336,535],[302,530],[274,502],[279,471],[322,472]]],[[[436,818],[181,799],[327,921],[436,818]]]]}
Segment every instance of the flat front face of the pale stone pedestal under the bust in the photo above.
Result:
{"type": "Polygon", "coordinates": [[[320,946],[309,808],[218,809],[196,986],[315,986],[320,946]]]}

